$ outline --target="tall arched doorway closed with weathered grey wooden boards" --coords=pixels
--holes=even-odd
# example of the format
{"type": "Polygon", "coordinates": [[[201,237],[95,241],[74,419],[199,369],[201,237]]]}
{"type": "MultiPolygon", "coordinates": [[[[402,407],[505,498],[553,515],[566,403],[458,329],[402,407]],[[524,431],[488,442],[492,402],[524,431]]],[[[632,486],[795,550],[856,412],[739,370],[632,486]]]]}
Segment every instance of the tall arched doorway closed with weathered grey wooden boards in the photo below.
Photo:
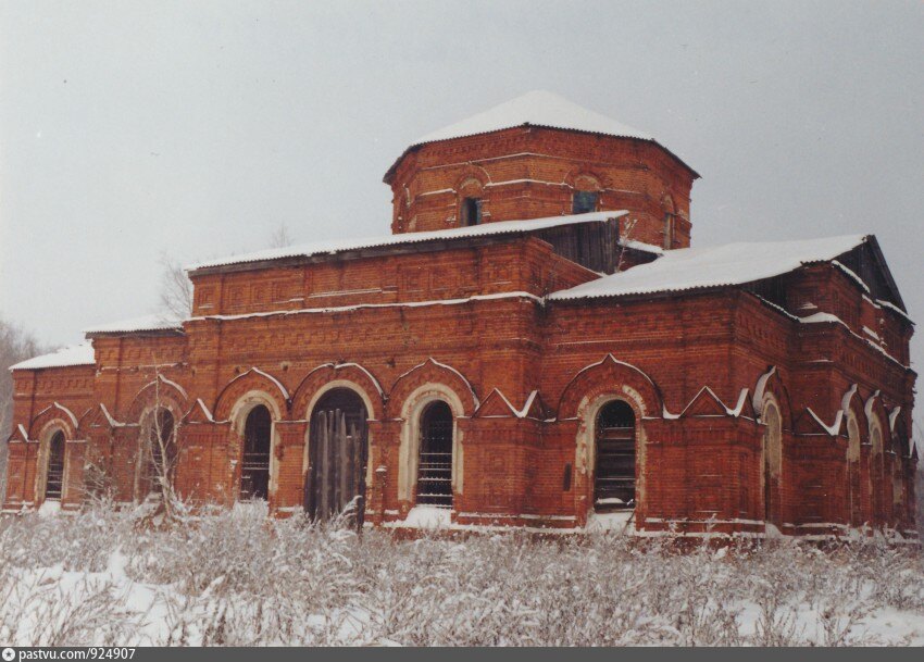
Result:
{"type": "Polygon", "coordinates": [[[337,515],[355,499],[357,516],[362,524],[367,419],[362,398],[349,388],[332,389],[314,405],[304,486],[304,509],[309,516],[337,515]]]}

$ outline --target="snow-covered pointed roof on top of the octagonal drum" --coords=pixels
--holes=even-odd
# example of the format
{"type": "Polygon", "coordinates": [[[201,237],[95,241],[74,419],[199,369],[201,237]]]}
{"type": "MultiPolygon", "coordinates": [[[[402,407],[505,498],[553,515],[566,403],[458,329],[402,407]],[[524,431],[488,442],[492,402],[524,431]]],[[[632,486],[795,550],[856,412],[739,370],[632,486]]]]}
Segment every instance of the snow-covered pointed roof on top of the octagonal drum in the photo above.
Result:
{"type": "Polygon", "coordinates": [[[414,145],[488,134],[504,128],[523,126],[524,124],[653,140],[645,132],[582,108],[563,97],[546,90],[533,90],[477,115],[472,115],[467,120],[444,126],[422,136],[414,141],[414,145]]]}

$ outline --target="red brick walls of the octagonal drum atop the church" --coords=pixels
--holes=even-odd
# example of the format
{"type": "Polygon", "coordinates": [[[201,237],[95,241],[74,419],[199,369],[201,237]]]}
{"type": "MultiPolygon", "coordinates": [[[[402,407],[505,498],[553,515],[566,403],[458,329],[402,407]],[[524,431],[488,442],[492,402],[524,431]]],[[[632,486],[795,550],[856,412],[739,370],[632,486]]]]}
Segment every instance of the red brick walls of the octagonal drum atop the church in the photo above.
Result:
{"type": "Polygon", "coordinates": [[[671,248],[690,245],[687,166],[662,147],[627,138],[537,127],[424,145],[388,184],[395,233],[459,224],[465,197],[482,199],[485,222],[572,213],[575,190],[600,193],[599,210],[628,210],[622,235],[664,246],[664,215],[675,214],[671,248]],[[632,232],[627,232],[630,224],[632,232]]]}

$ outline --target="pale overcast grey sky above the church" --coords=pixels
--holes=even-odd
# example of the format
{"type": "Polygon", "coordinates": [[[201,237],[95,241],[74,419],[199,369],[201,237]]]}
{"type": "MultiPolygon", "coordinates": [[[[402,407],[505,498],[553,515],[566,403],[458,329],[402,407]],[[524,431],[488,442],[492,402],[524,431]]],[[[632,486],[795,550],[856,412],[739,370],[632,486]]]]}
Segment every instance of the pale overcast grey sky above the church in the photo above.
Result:
{"type": "Polygon", "coordinates": [[[924,318],[924,3],[842,0],[0,2],[0,314],[77,341],[163,251],[385,234],[414,138],[536,88],[702,174],[695,246],[874,233],[924,318]]]}

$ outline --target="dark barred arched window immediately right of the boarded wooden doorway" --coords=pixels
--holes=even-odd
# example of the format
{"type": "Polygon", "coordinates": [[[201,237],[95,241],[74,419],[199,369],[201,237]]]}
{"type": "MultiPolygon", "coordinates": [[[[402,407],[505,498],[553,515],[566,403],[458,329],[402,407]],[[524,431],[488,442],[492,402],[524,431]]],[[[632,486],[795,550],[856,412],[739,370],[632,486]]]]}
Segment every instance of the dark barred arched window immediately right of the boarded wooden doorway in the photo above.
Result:
{"type": "Polygon", "coordinates": [[[442,400],[421,414],[417,503],[452,508],[452,410],[442,400]]]}

